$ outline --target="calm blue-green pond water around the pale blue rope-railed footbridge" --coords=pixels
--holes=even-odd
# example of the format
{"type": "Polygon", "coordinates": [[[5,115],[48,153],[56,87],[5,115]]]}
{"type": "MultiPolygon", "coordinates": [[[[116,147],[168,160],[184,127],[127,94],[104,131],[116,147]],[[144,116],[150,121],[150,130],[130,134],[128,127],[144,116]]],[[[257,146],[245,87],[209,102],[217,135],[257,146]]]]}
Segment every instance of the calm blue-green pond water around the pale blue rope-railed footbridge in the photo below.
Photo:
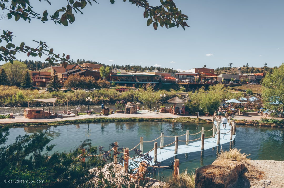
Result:
{"type": "MultiPolygon", "coordinates": [[[[133,148],[140,142],[151,141],[160,136],[161,132],[167,136],[176,136],[186,133],[197,133],[202,127],[205,130],[212,128],[212,124],[190,124],[190,123],[169,123],[169,122],[114,122],[114,123],[92,123],[92,124],[71,124],[65,126],[50,127],[27,127],[11,128],[8,144],[11,144],[16,136],[26,133],[32,134],[39,131],[47,131],[47,135],[53,140],[50,144],[57,144],[53,151],[70,151],[80,145],[80,141],[91,139],[93,145],[108,148],[109,144],[117,141],[119,147],[133,148]]],[[[205,137],[212,135],[212,131],[205,132],[205,137]]],[[[189,140],[197,139],[198,135],[190,135],[189,140]]],[[[180,138],[185,140],[185,136],[180,138]]],[[[174,138],[164,138],[164,145],[170,144],[174,138]]],[[[158,146],[160,140],[157,140],[158,146]]],[[[184,144],[179,142],[179,144],[184,144]]],[[[138,146],[139,147],[139,146],[138,146]]],[[[144,143],[144,152],[151,150],[154,142],[144,143]]],[[[180,161],[180,171],[188,168],[189,171],[203,165],[211,164],[217,157],[218,151],[229,150],[229,148],[241,149],[241,152],[251,154],[249,157],[254,160],[284,160],[284,129],[266,127],[237,126],[236,138],[234,141],[223,144],[220,147],[177,155],[180,161]]],[[[171,165],[174,158],[165,160],[162,165],[171,165]]],[[[163,174],[172,173],[171,170],[160,170],[163,174]]]]}

